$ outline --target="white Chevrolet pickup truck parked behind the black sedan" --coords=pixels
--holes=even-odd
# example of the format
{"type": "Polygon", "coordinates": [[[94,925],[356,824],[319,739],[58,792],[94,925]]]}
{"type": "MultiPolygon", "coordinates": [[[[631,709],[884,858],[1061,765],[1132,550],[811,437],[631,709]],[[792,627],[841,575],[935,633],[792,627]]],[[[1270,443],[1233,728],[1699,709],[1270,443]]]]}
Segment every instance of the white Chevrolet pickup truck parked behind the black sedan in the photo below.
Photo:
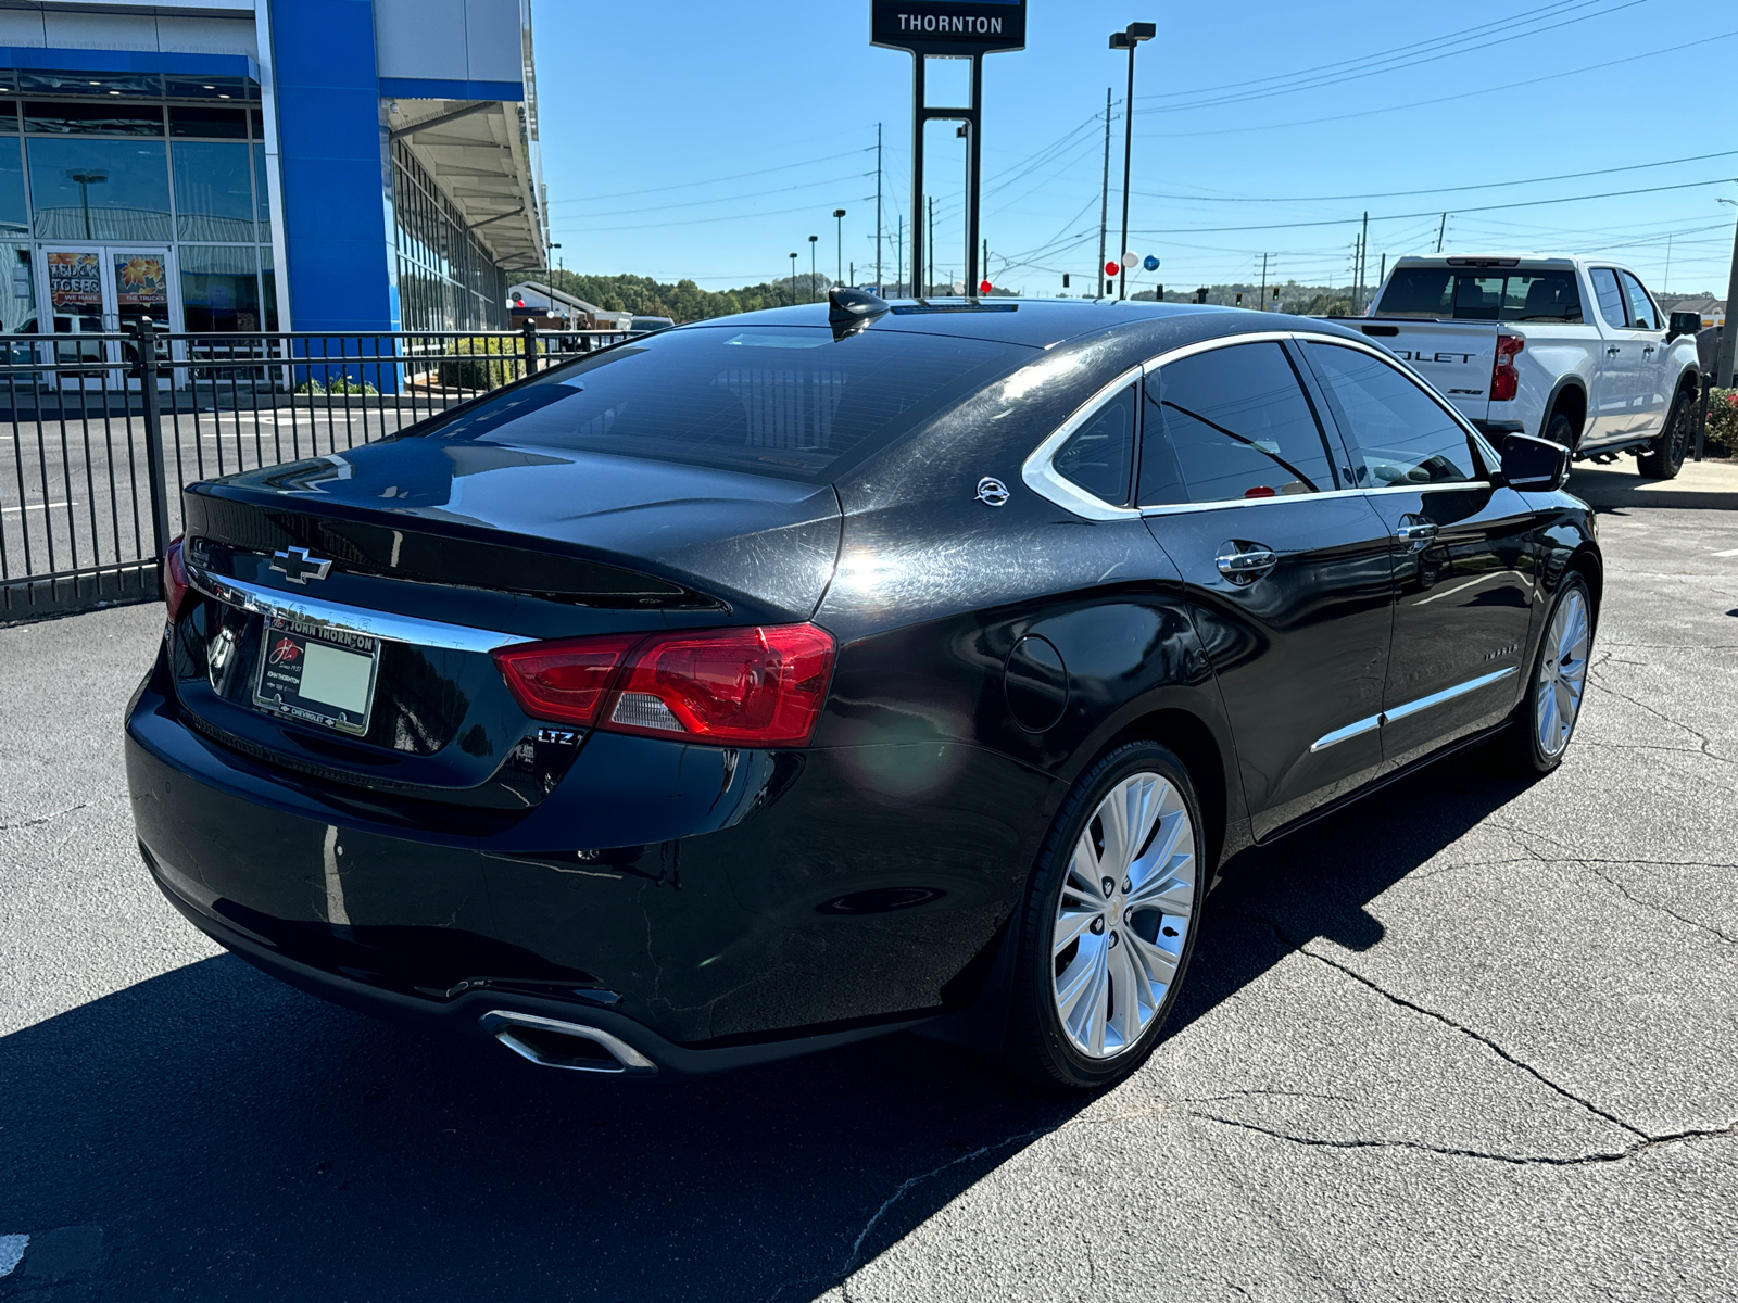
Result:
{"type": "Polygon", "coordinates": [[[1695,313],[1667,321],[1641,278],[1599,257],[1403,257],[1347,321],[1493,440],[1535,434],[1580,459],[1635,455],[1670,480],[1695,431],[1695,313]],[[1682,318],[1682,320],[1681,320],[1682,318]]]}

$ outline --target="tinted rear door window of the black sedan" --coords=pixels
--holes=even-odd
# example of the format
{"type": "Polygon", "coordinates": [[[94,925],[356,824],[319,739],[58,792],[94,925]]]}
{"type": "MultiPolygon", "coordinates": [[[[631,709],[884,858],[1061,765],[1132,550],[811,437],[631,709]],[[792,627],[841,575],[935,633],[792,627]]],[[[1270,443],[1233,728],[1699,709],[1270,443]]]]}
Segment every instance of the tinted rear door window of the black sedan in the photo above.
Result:
{"type": "Polygon", "coordinates": [[[1279,344],[1236,344],[1147,377],[1140,506],[1335,488],[1328,443],[1279,344]]]}

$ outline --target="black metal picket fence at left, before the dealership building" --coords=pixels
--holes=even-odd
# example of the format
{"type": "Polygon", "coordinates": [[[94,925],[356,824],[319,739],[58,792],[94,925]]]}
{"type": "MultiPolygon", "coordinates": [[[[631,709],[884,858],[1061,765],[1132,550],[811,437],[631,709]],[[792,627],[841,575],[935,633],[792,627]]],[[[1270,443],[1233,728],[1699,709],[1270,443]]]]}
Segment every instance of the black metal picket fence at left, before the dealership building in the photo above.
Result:
{"type": "Polygon", "coordinates": [[[181,488],[379,440],[619,330],[0,337],[0,624],[156,596],[181,488]]]}

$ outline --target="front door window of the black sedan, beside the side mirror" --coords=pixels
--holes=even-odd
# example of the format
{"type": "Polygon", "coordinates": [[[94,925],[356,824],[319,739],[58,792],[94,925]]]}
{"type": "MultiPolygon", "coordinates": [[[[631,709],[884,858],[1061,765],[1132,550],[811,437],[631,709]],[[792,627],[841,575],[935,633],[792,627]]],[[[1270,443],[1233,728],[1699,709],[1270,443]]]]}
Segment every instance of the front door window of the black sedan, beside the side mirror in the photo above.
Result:
{"type": "Polygon", "coordinates": [[[1359,488],[1439,485],[1479,478],[1472,436],[1408,375],[1364,353],[1310,342],[1359,488]]]}

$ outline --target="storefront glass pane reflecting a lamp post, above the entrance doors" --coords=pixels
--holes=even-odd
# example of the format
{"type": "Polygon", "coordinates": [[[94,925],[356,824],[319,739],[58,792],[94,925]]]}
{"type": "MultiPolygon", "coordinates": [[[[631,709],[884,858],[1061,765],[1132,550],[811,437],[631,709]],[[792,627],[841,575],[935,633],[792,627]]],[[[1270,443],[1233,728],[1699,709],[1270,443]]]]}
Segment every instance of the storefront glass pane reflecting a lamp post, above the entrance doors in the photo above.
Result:
{"type": "Polygon", "coordinates": [[[38,238],[170,238],[169,160],[160,141],[38,137],[26,149],[38,238]]]}

